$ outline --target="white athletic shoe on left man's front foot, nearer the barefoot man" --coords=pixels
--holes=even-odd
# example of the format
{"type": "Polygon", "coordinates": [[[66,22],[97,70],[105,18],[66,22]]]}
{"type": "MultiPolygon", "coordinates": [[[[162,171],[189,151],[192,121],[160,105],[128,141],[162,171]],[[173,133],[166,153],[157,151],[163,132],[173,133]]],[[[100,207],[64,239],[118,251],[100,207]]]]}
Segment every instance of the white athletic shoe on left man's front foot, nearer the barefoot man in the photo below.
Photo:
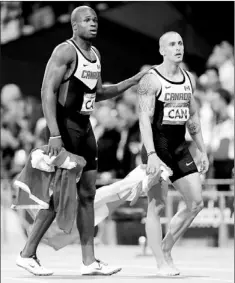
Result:
{"type": "Polygon", "coordinates": [[[90,265],[81,265],[81,275],[112,275],[122,269],[120,267],[111,267],[107,263],[104,263],[100,260],[96,260],[90,265]]]}

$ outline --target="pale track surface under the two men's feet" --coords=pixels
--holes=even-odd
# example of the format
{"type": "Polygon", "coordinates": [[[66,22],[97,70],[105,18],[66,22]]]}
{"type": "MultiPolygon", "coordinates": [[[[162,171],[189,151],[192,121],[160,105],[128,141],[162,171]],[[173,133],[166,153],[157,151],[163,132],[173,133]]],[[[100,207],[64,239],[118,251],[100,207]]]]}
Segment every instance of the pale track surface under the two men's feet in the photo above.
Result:
{"type": "MultiPolygon", "coordinates": [[[[17,241],[17,239],[16,239],[17,241]]],[[[15,265],[17,254],[22,248],[17,245],[2,245],[2,283],[73,283],[73,282],[135,282],[135,283],[233,283],[234,257],[232,248],[175,247],[173,257],[181,276],[162,277],[157,275],[154,257],[147,251],[141,255],[139,246],[96,246],[96,257],[122,271],[112,276],[81,276],[80,246],[68,246],[60,251],[40,245],[38,257],[41,263],[54,271],[49,277],[36,277],[15,265]]]]}

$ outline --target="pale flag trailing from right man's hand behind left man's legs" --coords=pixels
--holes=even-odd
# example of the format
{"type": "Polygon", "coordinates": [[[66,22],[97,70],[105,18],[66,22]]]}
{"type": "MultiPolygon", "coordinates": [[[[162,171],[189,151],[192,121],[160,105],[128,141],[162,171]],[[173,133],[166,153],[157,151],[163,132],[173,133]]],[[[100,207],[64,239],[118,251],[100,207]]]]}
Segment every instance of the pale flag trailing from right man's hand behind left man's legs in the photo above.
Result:
{"type": "MultiPolygon", "coordinates": [[[[152,185],[154,182],[159,182],[160,176],[167,181],[171,173],[164,166],[161,167],[160,170],[160,174],[155,174],[154,176],[146,175],[146,165],[139,165],[123,180],[99,188],[94,201],[95,226],[102,222],[107,216],[111,215],[111,213],[125,201],[132,201],[140,185],[143,192],[146,193],[149,190],[149,184],[152,185]]],[[[44,242],[55,250],[72,244],[77,239],[78,231],[76,221],[70,234],[65,234],[63,231],[59,230],[57,225],[52,224],[43,238],[44,242]]]]}

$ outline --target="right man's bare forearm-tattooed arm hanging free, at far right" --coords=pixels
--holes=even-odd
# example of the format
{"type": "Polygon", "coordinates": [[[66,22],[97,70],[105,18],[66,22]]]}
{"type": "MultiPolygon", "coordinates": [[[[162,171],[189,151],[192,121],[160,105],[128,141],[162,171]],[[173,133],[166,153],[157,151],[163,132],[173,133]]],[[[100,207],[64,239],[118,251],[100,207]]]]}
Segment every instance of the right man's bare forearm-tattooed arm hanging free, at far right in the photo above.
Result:
{"type": "MultiPolygon", "coordinates": [[[[193,88],[195,88],[194,79],[191,74],[190,74],[190,78],[193,84],[193,88]]],[[[197,111],[197,104],[195,102],[193,95],[190,100],[189,115],[190,117],[186,123],[186,126],[188,128],[189,134],[191,135],[192,139],[195,141],[198,149],[203,154],[202,156],[203,166],[202,167],[204,167],[204,169],[202,169],[201,172],[205,173],[208,170],[209,161],[207,158],[206,147],[205,147],[203,137],[202,137],[201,123],[200,123],[200,119],[199,119],[199,115],[197,111]]]]}

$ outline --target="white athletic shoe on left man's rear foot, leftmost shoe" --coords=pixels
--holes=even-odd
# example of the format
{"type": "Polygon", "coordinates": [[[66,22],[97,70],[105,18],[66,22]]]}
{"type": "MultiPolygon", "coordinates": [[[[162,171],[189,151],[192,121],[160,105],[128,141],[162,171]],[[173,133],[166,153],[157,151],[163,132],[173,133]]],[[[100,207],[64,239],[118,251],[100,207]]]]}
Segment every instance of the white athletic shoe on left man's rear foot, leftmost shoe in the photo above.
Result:
{"type": "Polygon", "coordinates": [[[36,276],[49,276],[53,274],[51,270],[48,270],[41,266],[40,261],[38,260],[36,255],[32,257],[22,257],[20,254],[16,260],[16,265],[24,268],[25,270],[36,276]]]}

